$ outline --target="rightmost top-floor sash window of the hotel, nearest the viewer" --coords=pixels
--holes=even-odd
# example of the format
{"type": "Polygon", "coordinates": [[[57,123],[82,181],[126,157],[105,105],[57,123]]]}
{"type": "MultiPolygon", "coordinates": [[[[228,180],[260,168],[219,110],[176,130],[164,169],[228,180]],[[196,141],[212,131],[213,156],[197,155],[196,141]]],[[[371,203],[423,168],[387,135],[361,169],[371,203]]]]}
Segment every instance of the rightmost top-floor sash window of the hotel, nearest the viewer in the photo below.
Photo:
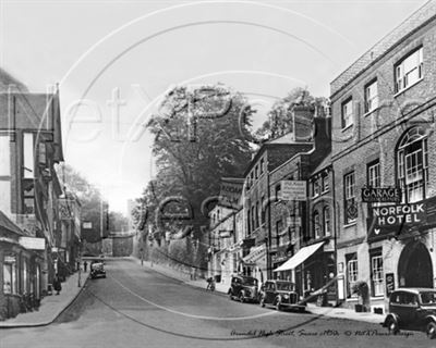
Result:
{"type": "Polygon", "coordinates": [[[419,48],[395,67],[396,92],[403,90],[423,78],[423,48],[419,48]]]}

